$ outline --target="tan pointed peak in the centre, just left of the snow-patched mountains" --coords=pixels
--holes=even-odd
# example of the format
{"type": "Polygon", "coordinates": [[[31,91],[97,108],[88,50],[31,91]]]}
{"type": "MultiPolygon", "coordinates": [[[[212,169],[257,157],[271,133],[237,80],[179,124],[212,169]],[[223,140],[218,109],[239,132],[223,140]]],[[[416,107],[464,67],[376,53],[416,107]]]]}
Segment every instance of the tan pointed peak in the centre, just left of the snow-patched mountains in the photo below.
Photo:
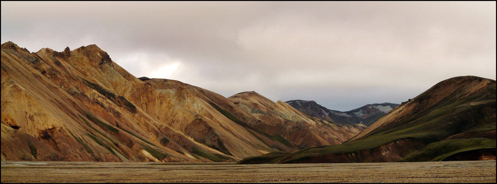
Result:
{"type": "Polygon", "coordinates": [[[252,123],[256,128],[303,148],[340,144],[364,129],[306,116],[282,101],[275,103],[253,91],[238,93],[228,99],[260,120],[252,123]]]}

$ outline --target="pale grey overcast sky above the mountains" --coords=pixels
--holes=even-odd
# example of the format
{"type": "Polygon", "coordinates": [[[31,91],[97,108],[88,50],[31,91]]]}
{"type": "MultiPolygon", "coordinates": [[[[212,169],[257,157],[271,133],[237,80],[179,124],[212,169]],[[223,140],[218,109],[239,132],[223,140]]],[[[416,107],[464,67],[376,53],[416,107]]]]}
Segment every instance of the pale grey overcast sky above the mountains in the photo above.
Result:
{"type": "Polygon", "coordinates": [[[1,1],[1,43],[96,44],[136,77],[348,111],[496,79],[496,2],[1,1]]]}

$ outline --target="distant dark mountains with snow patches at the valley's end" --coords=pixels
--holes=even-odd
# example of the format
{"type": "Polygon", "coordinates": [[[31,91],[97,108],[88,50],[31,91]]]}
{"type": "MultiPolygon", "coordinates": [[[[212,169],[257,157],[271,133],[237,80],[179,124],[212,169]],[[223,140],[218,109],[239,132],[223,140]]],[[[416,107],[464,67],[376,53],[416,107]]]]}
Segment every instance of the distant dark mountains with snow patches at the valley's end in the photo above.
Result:
{"type": "Polygon", "coordinates": [[[293,108],[306,115],[316,117],[320,120],[340,124],[362,123],[366,126],[370,126],[375,123],[383,115],[386,115],[393,108],[400,105],[392,103],[368,104],[351,111],[340,112],[329,110],[314,101],[290,100],[285,103],[291,105],[293,108]]]}

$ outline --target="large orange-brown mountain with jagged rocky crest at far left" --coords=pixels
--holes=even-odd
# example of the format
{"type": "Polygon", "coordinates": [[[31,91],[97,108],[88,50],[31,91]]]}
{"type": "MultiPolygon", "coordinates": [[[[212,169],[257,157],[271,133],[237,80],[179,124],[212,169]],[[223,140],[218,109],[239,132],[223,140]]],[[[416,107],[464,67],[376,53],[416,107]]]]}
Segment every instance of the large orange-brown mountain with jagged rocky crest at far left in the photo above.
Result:
{"type": "MultiPolygon", "coordinates": [[[[145,113],[161,109],[163,116],[186,114],[191,122],[195,114],[141,83],[94,45],[64,53],[29,53],[7,42],[1,57],[2,130],[27,133],[43,143],[33,144],[31,151],[49,147],[69,161],[208,161],[189,152],[220,153],[162,123],[165,117],[145,113]],[[161,99],[162,104],[145,108],[149,99],[137,99],[132,91],[148,92],[147,98],[161,99]]],[[[3,133],[2,158],[23,160],[7,154],[4,145],[23,148],[4,141],[3,133]]]]}

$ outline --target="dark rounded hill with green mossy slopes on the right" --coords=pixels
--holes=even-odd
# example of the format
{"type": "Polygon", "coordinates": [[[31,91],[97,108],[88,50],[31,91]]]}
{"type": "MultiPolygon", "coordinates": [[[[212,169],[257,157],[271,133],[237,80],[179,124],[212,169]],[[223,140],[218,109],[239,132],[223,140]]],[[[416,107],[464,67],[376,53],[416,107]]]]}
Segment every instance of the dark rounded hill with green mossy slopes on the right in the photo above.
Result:
{"type": "Polygon", "coordinates": [[[496,81],[443,80],[349,141],[296,152],[273,152],[248,163],[421,162],[496,159],[496,81]]]}

